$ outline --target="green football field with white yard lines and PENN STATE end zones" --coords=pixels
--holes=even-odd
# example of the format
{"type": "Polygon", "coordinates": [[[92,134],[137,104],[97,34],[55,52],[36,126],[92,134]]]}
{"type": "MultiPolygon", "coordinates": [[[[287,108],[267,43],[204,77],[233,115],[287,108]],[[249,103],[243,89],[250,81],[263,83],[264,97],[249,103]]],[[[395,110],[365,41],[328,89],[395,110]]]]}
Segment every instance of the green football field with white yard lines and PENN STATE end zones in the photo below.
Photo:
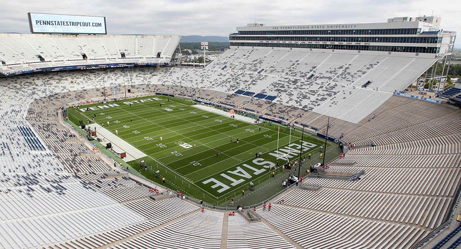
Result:
{"type": "Polygon", "coordinates": [[[147,155],[129,162],[135,170],[162,184],[165,177],[163,185],[173,191],[208,201],[229,199],[247,189],[250,181],[258,183],[272,171],[280,172],[287,159],[299,158],[301,150],[309,153],[323,144],[305,133],[301,146],[300,133],[292,131],[290,136],[286,126],[243,122],[195,104],[150,96],[69,108],[69,118],[78,124],[95,116],[96,123],[147,155]],[[140,170],[141,160],[147,170],[140,170]]]}

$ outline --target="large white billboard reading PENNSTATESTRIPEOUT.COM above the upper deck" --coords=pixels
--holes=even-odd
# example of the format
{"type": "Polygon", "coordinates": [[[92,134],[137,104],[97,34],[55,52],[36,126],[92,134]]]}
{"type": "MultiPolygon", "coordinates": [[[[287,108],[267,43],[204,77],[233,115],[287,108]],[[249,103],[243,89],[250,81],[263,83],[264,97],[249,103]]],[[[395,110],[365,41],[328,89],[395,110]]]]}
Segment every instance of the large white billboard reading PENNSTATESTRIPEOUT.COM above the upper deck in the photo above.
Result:
{"type": "Polygon", "coordinates": [[[106,17],[28,13],[32,33],[107,34],[106,17]]]}

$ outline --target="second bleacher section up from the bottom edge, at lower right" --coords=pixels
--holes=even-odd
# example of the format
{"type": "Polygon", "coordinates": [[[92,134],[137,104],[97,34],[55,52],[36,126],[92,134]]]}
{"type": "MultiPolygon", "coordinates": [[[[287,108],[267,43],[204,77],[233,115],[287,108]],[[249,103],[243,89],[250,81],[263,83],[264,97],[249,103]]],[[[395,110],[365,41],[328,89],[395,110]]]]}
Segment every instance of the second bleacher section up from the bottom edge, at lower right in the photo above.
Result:
{"type": "Polygon", "coordinates": [[[285,205],[309,210],[403,223],[428,229],[434,229],[442,224],[442,220],[437,220],[436,217],[443,217],[447,213],[451,201],[451,198],[446,197],[432,198],[332,188],[322,188],[319,191],[294,190],[280,197],[281,199],[284,200],[285,205]],[[432,209],[437,212],[426,211],[432,209]]]}

